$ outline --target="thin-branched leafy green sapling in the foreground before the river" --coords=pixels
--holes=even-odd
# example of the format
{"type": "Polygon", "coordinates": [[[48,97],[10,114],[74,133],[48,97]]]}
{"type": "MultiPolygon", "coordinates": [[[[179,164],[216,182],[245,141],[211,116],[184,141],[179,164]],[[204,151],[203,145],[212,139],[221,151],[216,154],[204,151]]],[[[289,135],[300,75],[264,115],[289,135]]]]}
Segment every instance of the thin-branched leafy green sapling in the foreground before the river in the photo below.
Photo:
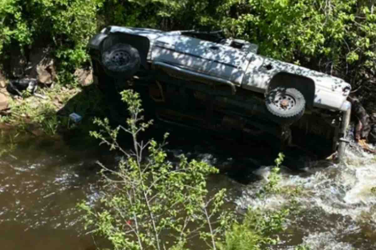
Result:
{"type": "Polygon", "coordinates": [[[162,150],[164,143],[139,141],[139,133],[152,122],[143,122],[137,93],[125,90],[121,95],[130,113],[127,126],[111,129],[107,119],[96,119],[102,132],[91,132],[111,150],[120,150],[124,158],[116,170],[102,165],[100,173],[106,186],[100,201],[102,208],[94,209],[85,202],[79,205],[85,211],[86,226],[107,238],[115,250],[177,250],[189,244],[192,237],[199,237],[215,249],[215,242],[232,222],[230,211],[222,206],[226,190],[209,196],[206,189],[206,178],[218,170],[184,156],[174,166],[162,150]],[[132,136],[132,151],[118,143],[121,131],[132,136]]]}

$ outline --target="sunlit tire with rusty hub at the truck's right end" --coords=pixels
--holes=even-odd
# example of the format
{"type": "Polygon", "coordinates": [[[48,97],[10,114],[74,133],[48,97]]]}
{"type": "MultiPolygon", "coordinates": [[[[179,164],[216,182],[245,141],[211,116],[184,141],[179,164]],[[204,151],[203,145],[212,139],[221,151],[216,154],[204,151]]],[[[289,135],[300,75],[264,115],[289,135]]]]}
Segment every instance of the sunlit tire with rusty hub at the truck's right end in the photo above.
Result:
{"type": "Polygon", "coordinates": [[[277,123],[294,123],[305,111],[306,100],[296,88],[277,87],[265,99],[271,119],[277,123]]]}

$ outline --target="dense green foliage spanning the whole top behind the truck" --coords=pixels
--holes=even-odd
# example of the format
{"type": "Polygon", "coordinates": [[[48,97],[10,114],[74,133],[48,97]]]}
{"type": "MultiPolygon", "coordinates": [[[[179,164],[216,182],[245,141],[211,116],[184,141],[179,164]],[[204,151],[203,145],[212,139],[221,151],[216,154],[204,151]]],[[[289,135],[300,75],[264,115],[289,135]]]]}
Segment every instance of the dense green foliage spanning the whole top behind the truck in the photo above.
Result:
{"type": "MultiPolygon", "coordinates": [[[[108,24],[224,29],[260,53],[345,78],[374,81],[373,0],[0,0],[0,53],[48,40],[66,66],[87,59],[89,37],[108,24]]],[[[365,90],[367,90],[364,88],[365,90]]]]}

